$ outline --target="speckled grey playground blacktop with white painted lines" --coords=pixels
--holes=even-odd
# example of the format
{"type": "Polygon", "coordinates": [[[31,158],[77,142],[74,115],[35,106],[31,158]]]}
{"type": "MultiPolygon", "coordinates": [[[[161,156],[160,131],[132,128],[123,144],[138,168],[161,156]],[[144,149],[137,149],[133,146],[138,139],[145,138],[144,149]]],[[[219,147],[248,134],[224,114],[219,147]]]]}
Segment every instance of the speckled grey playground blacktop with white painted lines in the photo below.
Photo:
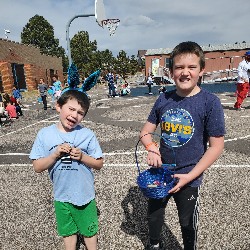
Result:
{"type": "MultiPolygon", "coordinates": [[[[107,98],[106,89],[90,91],[91,109],[84,125],[95,131],[105,166],[95,171],[100,211],[98,249],[143,250],[147,203],[136,185],[135,145],[157,95],[107,98]]],[[[145,89],[145,92],[146,89],[145,89]]],[[[224,107],[227,135],[221,157],[205,173],[200,195],[200,250],[250,249],[250,98],[246,109],[233,109],[232,93],[217,94],[224,107]]],[[[23,117],[0,128],[0,249],[62,250],[57,236],[52,186],[47,172],[33,171],[28,154],[39,129],[57,122],[56,111],[24,100],[23,117]]],[[[139,146],[140,166],[146,152],[139,146]]],[[[175,204],[170,202],[162,234],[169,250],[181,250],[175,204]]]]}

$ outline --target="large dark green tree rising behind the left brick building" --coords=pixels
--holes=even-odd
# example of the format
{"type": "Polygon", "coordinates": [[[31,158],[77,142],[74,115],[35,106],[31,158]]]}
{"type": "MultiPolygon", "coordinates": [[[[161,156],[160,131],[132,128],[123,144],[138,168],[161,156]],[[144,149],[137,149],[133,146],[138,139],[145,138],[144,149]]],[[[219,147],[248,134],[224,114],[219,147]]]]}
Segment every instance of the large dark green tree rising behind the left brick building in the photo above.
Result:
{"type": "Polygon", "coordinates": [[[65,50],[54,37],[53,26],[43,16],[35,15],[29,19],[21,32],[21,42],[38,47],[42,54],[62,57],[63,68],[67,69],[65,50]]]}

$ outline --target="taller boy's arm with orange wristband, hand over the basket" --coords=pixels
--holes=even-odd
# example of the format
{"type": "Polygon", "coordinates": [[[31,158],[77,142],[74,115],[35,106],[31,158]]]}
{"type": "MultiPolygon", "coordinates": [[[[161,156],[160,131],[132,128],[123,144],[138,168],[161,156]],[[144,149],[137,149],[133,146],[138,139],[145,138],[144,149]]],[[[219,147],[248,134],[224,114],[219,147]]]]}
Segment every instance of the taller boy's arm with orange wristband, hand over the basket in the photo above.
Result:
{"type": "Polygon", "coordinates": [[[161,154],[158,146],[153,142],[151,134],[156,130],[156,125],[150,122],[146,122],[141,130],[140,138],[141,142],[148,151],[147,163],[153,167],[160,167],[162,165],[161,154]]]}

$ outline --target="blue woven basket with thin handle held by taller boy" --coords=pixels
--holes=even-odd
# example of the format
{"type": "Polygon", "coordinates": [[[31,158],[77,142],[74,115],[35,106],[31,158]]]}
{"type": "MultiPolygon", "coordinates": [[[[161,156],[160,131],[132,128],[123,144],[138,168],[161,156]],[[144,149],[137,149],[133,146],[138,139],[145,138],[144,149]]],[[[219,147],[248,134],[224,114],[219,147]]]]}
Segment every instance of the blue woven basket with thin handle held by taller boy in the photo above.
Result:
{"type": "MultiPolygon", "coordinates": [[[[148,133],[148,134],[157,135],[163,138],[162,136],[155,133],[148,133]]],[[[176,184],[176,179],[173,178],[173,175],[175,173],[176,163],[162,164],[161,167],[158,168],[150,167],[147,170],[141,171],[137,158],[137,147],[140,140],[138,141],[135,149],[135,160],[138,168],[137,184],[142,193],[146,197],[152,199],[164,198],[169,195],[168,191],[172,189],[176,184]]],[[[175,159],[174,150],[173,150],[173,155],[175,159]]]]}

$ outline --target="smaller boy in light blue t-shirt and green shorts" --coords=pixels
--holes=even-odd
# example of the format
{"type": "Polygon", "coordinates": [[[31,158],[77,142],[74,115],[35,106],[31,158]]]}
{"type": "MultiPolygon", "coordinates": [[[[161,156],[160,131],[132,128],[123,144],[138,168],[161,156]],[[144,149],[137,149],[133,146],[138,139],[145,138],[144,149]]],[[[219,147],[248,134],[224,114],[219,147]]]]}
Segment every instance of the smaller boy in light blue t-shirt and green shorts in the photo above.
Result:
{"type": "Polygon", "coordinates": [[[95,134],[81,125],[89,105],[85,93],[64,92],[56,104],[58,123],[38,132],[30,153],[34,170],[48,170],[53,182],[57,230],[66,250],[75,249],[78,233],[84,236],[88,250],[97,249],[92,170],[102,168],[103,158],[95,134]]]}

